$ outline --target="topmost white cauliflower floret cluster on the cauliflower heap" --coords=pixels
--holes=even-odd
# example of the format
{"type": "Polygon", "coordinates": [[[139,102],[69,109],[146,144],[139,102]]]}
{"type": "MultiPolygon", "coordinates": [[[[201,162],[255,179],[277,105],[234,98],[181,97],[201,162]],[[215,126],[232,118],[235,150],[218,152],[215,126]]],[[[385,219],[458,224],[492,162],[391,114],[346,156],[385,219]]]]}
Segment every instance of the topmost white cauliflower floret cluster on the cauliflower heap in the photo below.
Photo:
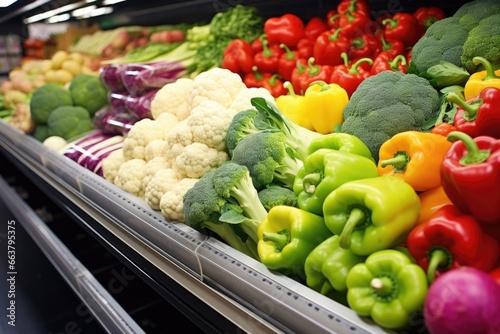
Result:
{"type": "Polygon", "coordinates": [[[205,100],[215,101],[229,108],[236,95],[246,88],[238,74],[218,67],[201,72],[193,81],[188,97],[191,110],[205,100]]]}

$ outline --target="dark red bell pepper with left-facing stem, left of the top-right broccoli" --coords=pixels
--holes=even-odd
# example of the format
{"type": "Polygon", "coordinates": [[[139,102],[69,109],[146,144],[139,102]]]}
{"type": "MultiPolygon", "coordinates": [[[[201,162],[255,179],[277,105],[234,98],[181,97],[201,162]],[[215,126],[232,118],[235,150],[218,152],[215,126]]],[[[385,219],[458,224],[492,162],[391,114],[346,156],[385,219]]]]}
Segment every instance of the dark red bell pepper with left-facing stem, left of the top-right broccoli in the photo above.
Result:
{"type": "Polygon", "coordinates": [[[418,21],[412,14],[396,13],[390,19],[382,21],[384,36],[403,42],[406,47],[413,46],[420,39],[418,21]]]}

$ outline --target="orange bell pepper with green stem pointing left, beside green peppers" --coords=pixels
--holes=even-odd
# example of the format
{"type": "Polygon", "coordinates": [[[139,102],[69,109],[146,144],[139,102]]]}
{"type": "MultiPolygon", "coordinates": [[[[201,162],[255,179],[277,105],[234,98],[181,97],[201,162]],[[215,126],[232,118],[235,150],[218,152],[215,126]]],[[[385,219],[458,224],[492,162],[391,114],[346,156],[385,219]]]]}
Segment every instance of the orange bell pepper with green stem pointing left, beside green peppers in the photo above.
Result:
{"type": "Polygon", "coordinates": [[[405,131],[385,141],[379,150],[380,176],[402,178],[415,191],[441,185],[440,167],[451,143],[446,137],[419,131],[405,131]]]}

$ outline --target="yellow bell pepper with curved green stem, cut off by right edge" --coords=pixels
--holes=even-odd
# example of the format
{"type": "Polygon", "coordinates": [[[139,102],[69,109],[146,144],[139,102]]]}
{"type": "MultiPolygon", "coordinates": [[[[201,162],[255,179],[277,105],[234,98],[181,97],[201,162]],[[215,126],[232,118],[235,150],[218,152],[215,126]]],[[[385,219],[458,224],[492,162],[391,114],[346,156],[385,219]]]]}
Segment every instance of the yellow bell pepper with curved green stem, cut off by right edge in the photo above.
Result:
{"type": "Polygon", "coordinates": [[[496,87],[500,89],[500,70],[493,71],[493,66],[482,57],[474,57],[474,63],[482,64],[484,71],[473,73],[464,86],[465,100],[476,97],[486,87],[496,87]]]}

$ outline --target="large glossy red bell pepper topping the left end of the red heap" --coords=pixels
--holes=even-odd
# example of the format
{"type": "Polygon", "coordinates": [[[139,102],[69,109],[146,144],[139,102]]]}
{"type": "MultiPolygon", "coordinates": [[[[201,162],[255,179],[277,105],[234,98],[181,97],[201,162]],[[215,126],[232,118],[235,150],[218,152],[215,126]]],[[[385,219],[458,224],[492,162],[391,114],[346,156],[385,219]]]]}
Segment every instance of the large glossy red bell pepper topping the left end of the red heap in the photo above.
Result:
{"type": "Polygon", "coordinates": [[[264,34],[269,44],[286,44],[295,47],[304,37],[304,21],[294,14],[285,14],[280,17],[271,17],[264,22],[264,34]]]}

